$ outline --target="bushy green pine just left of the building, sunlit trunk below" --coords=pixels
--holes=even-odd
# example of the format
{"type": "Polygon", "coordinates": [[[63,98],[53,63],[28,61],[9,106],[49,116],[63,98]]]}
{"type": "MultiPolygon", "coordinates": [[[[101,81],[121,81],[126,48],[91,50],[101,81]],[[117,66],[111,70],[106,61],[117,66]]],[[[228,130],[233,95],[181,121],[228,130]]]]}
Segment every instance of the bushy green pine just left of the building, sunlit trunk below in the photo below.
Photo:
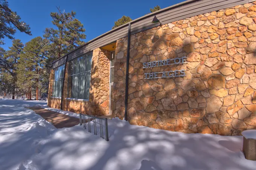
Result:
{"type": "Polygon", "coordinates": [[[35,89],[36,100],[39,97],[38,93],[41,88],[48,46],[49,42],[47,39],[35,37],[26,43],[18,64],[18,87],[29,93],[32,89],[35,89]]]}

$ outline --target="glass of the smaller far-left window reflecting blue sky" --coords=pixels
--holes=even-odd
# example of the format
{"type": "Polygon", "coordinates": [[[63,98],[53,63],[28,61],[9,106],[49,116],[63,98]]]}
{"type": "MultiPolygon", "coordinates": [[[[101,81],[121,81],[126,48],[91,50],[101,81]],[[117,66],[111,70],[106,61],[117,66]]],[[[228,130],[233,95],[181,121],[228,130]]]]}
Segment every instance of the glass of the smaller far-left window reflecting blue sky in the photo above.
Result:
{"type": "Polygon", "coordinates": [[[65,65],[53,70],[52,96],[61,97],[65,65]]]}

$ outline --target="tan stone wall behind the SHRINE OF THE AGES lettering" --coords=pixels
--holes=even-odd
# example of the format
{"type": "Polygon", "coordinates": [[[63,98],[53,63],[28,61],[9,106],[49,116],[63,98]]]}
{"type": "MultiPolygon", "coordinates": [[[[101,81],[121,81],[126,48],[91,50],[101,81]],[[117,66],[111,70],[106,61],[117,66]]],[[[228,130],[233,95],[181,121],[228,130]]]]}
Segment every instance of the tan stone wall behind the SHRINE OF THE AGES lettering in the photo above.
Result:
{"type": "MultiPolygon", "coordinates": [[[[128,120],[184,133],[239,135],[256,127],[256,2],[131,36],[128,120]],[[187,64],[142,63],[187,56],[187,64]],[[186,77],[144,73],[186,69],[186,77]]],[[[127,38],[117,41],[113,113],[124,116],[127,38]]]]}

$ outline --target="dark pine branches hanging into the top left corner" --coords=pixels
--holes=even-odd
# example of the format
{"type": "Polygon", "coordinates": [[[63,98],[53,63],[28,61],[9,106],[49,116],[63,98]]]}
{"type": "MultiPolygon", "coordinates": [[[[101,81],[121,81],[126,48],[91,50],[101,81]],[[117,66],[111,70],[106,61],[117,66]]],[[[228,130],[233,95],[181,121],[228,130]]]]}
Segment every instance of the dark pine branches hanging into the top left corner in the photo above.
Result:
{"type": "Polygon", "coordinates": [[[14,39],[16,29],[26,34],[32,35],[29,25],[20,21],[20,16],[9,8],[6,0],[0,0],[0,44],[3,44],[4,37],[14,39]],[[15,29],[16,28],[16,29],[15,29]]]}

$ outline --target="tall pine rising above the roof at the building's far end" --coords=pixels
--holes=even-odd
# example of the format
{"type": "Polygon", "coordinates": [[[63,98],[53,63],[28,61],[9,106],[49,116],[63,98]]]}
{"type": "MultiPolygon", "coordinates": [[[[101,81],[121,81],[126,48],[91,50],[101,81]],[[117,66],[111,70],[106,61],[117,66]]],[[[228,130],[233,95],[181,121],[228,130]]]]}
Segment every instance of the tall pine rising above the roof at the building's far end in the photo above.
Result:
{"type": "Polygon", "coordinates": [[[53,60],[62,57],[69,51],[82,45],[85,39],[84,25],[75,18],[76,12],[66,13],[61,11],[59,7],[58,12],[51,12],[50,16],[55,28],[46,28],[44,37],[51,43],[51,53],[53,60]]]}

